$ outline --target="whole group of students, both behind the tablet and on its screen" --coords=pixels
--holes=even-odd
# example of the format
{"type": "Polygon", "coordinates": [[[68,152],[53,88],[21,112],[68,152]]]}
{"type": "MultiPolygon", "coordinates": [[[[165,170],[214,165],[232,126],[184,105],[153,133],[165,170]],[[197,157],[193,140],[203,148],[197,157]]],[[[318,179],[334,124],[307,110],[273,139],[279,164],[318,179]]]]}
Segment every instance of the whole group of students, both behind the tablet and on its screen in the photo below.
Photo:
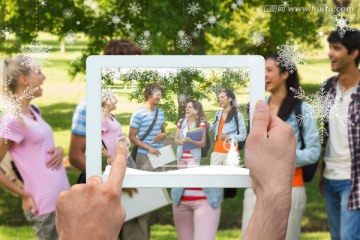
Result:
{"type": "MultiPolygon", "coordinates": [[[[332,239],[359,239],[360,32],[348,31],[341,38],[334,31],[330,33],[328,42],[331,69],[339,73],[323,85],[330,86],[327,93],[333,97],[333,105],[329,110],[341,111],[349,116],[352,124],[344,125],[342,119],[338,118],[329,118],[325,121],[326,134],[320,190],[325,196],[332,239]]],[[[131,55],[142,54],[142,51],[130,41],[113,40],[105,47],[104,53],[131,55]]],[[[288,71],[278,64],[277,60],[276,54],[266,57],[265,81],[266,89],[270,93],[266,100],[273,115],[289,124],[292,123],[295,136],[299,140],[296,148],[296,170],[294,179],[291,180],[292,201],[286,234],[287,239],[298,239],[301,218],[306,206],[302,167],[319,159],[321,147],[316,119],[311,117],[313,109],[307,103],[296,99],[290,90],[300,86],[297,71],[288,71]],[[297,122],[296,108],[300,108],[302,113],[310,111],[310,114],[303,114],[302,122],[299,124],[294,124],[297,122]]],[[[10,152],[24,180],[24,187],[21,188],[11,182],[2,171],[0,171],[0,184],[22,198],[25,216],[33,224],[38,239],[57,239],[55,202],[60,192],[70,188],[62,165],[63,150],[55,146],[51,127],[41,118],[39,109],[30,104],[33,98],[41,97],[41,85],[45,75],[39,68],[32,69],[31,66],[23,65],[22,56],[3,59],[0,62],[0,74],[2,78],[6,74],[10,79],[6,84],[2,83],[2,87],[5,88],[2,89],[2,94],[10,91],[18,96],[21,102],[21,116],[27,116],[29,120],[24,120],[20,114],[8,113],[7,121],[0,123],[0,129],[8,130],[0,132],[0,159],[3,159],[8,151],[10,152]],[[26,91],[30,91],[32,96],[21,98],[26,91]]],[[[162,87],[158,84],[149,84],[144,91],[145,105],[131,117],[128,138],[138,149],[135,159],[132,159],[127,150],[128,166],[146,171],[154,170],[146,154],[159,154],[159,149],[167,137],[164,112],[156,107],[161,100],[162,91],[162,87]]],[[[207,131],[213,131],[215,135],[210,164],[226,164],[229,149],[227,140],[233,138],[235,141],[242,141],[247,135],[244,117],[237,111],[234,101],[235,95],[231,91],[224,90],[220,93],[221,110],[216,113],[214,117],[216,121],[213,124],[206,121],[201,103],[195,100],[188,101],[186,114],[178,121],[174,138],[179,165],[184,167],[200,164],[201,147],[205,145],[207,131]],[[199,127],[204,129],[200,141],[186,137],[188,130],[199,127]],[[186,142],[196,145],[196,148],[183,151],[182,145],[186,142]]],[[[71,164],[83,172],[86,161],[85,106],[86,103],[83,101],[75,110],[69,152],[71,164]]],[[[106,146],[103,154],[109,158],[109,163],[114,159],[116,142],[127,141],[120,124],[111,114],[115,109],[116,99],[103,103],[102,134],[103,145],[106,146]]],[[[291,152],[291,149],[288,151],[291,152]]],[[[282,156],[278,157],[282,158],[282,156]]],[[[124,191],[136,194],[134,189],[124,189],[124,191]]],[[[223,189],[172,189],[171,196],[179,239],[215,239],[223,189]]],[[[244,196],[243,233],[250,221],[255,203],[254,192],[252,189],[247,189],[244,196]]],[[[149,227],[148,215],[127,221],[123,225],[121,238],[149,239],[149,227]]]]}

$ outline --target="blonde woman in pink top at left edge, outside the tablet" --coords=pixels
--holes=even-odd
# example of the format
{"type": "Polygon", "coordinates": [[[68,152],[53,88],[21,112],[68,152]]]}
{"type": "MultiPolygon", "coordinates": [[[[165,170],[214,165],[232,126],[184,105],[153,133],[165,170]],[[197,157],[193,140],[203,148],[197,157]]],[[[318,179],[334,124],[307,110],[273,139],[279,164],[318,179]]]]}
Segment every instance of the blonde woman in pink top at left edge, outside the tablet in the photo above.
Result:
{"type": "Polygon", "coordinates": [[[7,151],[24,180],[24,188],[0,171],[0,184],[22,198],[25,217],[36,239],[58,239],[55,203],[70,188],[63,166],[63,149],[56,147],[51,127],[30,102],[42,96],[45,75],[34,60],[18,56],[0,62],[1,100],[12,108],[0,122],[0,159],[7,151]]]}

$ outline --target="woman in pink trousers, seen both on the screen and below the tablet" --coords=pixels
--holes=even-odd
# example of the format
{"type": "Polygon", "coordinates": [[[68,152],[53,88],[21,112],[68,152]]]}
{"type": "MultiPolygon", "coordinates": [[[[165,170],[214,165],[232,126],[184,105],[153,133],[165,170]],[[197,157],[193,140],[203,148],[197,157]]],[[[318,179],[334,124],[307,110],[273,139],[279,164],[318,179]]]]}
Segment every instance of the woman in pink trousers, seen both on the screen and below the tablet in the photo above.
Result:
{"type": "MultiPolygon", "coordinates": [[[[178,145],[178,165],[199,166],[201,148],[205,146],[206,141],[204,111],[201,103],[192,100],[187,103],[185,113],[185,117],[178,121],[174,138],[178,145]],[[200,140],[194,140],[199,139],[199,134],[200,140]]],[[[171,197],[174,202],[174,222],[179,240],[215,239],[223,199],[222,189],[173,188],[171,197]]]]}

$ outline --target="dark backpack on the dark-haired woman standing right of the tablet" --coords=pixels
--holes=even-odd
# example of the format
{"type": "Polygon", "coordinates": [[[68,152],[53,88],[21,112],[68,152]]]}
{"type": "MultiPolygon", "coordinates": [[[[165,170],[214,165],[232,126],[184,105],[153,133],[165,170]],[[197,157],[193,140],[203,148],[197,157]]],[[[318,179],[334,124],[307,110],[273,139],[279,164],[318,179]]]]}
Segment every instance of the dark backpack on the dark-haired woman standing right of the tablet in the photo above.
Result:
{"type": "MultiPolygon", "coordinates": [[[[299,124],[299,122],[301,122],[301,118],[302,118],[302,114],[301,114],[302,102],[303,101],[300,100],[297,104],[295,104],[295,116],[296,116],[296,119],[299,119],[297,121],[297,124],[299,127],[299,135],[300,135],[299,140],[300,140],[300,144],[301,144],[301,146],[300,146],[301,150],[305,149],[305,147],[306,147],[304,137],[302,134],[303,133],[303,125],[299,124]]],[[[317,160],[315,163],[312,163],[312,164],[302,167],[304,182],[310,182],[314,178],[318,164],[319,164],[319,160],[317,160]]]]}

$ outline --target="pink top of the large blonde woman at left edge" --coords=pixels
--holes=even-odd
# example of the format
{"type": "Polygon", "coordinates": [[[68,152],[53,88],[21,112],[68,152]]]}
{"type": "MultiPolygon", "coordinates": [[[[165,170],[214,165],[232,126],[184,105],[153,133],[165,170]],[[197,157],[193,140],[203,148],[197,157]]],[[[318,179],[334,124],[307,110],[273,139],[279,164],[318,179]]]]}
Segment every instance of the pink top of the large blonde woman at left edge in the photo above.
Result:
{"type": "MultiPolygon", "coordinates": [[[[59,193],[70,185],[63,166],[54,170],[46,166],[52,157],[48,151],[55,147],[53,133],[38,112],[31,109],[31,113],[35,121],[27,126],[16,118],[9,121],[7,138],[13,142],[9,152],[24,180],[24,191],[33,197],[38,215],[42,215],[55,211],[59,193]]],[[[1,123],[0,129],[3,127],[1,123]]]]}

